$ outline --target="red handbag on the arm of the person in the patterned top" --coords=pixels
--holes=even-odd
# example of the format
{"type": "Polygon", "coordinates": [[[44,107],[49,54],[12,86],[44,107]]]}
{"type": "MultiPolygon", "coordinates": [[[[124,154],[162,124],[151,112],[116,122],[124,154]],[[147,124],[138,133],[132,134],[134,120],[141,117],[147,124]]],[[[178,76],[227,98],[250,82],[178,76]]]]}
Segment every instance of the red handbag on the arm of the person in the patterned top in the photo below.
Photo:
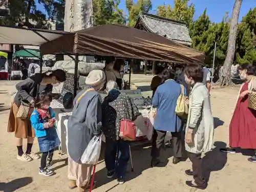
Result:
{"type": "Polygon", "coordinates": [[[122,119],[120,122],[119,137],[127,141],[136,140],[136,125],[134,122],[122,119]]]}

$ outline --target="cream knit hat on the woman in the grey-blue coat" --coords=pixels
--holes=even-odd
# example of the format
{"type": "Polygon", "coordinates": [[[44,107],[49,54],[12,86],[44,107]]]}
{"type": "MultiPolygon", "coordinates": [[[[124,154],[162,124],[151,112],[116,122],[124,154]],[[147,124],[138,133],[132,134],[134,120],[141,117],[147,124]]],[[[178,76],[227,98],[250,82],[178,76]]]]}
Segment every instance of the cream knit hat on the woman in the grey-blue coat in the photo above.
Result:
{"type": "Polygon", "coordinates": [[[96,87],[105,81],[105,73],[101,70],[93,70],[86,77],[86,84],[91,87],[96,87]]]}

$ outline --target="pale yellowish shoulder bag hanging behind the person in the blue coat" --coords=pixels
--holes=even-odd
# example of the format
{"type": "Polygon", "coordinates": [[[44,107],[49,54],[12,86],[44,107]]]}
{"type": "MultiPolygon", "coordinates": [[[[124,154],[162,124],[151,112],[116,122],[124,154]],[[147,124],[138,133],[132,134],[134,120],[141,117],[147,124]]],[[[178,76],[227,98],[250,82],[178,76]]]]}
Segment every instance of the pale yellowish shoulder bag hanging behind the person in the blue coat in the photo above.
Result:
{"type": "Polygon", "coordinates": [[[175,113],[181,118],[181,119],[187,119],[188,115],[188,106],[185,103],[185,92],[184,92],[184,86],[181,84],[181,94],[177,99],[177,104],[175,108],[175,113]]]}

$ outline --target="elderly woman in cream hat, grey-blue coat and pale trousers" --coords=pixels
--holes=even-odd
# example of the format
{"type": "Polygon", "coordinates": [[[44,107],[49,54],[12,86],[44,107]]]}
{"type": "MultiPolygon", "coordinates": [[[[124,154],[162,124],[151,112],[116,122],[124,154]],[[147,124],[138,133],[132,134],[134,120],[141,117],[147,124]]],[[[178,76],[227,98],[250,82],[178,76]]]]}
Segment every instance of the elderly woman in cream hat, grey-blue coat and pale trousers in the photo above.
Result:
{"type": "Polygon", "coordinates": [[[97,91],[104,87],[105,74],[93,70],[86,78],[87,88],[74,99],[74,108],[68,121],[68,178],[69,187],[79,192],[90,190],[92,166],[83,164],[81,157],[90,140],[101,134],[101,98],[97,91]]]}

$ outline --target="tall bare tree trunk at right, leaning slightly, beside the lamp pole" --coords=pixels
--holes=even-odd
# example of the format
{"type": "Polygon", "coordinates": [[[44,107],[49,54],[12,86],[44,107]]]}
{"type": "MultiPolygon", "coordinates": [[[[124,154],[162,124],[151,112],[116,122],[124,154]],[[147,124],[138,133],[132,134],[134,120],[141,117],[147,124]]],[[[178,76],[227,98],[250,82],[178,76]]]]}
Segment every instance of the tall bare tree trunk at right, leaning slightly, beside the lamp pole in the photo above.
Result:
{"type": "Polygon", "coordinates": [[[223,75],[221,77],[221,86],[228,86],[230,82],[230,71],[231,71],[231,65],[234,60],[234,53],[236,51],[238,18],[239,18],[242,1],[243,0],[236,0],[233,6],[233,12],[232,12],[232,18],[231,18],[229,36],[228,36],[227,55],[223,65],[223,75]]]}

